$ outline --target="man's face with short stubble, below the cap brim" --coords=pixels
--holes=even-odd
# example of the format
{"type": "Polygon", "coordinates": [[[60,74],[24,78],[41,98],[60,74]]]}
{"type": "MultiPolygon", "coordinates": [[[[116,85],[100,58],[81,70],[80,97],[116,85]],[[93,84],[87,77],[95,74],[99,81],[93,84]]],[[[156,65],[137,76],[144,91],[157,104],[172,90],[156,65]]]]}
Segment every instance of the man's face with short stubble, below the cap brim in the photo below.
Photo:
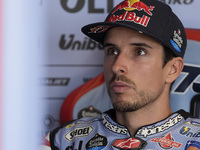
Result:
{"type": "Polygon", "coordinates": [[[104,72],[113,107],[135,111],[159,99],[165,86],[163,46],[142,33],[110,29],[104,39],[104,72]]]}

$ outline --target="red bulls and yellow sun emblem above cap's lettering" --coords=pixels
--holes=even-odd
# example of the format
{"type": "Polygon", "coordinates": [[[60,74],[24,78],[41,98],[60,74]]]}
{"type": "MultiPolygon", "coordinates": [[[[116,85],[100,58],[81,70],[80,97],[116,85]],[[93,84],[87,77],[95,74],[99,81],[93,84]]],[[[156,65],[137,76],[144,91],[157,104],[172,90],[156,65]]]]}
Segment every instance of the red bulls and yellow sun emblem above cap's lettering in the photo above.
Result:
{"type": "Polygon", "coordinates": [[[117,5],[112,13],[115,13],[117,10],[126,10],[126,11],[144,11],[148,15],[152,16],[152,11],[155,8],[155,6],[147,6],[145,3],[141,2],[140,0],[126,0],[119,5],[117,5]]]}

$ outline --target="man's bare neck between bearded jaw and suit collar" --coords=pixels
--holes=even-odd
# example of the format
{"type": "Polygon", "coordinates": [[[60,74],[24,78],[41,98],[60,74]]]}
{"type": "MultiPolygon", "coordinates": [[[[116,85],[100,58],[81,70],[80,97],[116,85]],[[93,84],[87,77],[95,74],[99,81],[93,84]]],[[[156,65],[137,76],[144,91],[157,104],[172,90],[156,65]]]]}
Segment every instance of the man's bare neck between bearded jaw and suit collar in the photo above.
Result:
{"type": "Polygon", "coordinates": [[[126,126],[131,136],[134,136],[140,127],[161,121],[171,114],[169,96],[165,96],[165,99],[157,99],[133,112],[116,111],[116,120],[126,126]]]}

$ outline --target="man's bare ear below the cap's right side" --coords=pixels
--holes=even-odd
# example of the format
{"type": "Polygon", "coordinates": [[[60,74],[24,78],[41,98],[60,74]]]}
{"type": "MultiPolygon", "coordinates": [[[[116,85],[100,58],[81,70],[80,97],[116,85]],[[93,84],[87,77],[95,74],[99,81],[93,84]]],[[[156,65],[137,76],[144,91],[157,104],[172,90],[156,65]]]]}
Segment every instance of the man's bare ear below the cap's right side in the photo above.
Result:
{"type": "Polygon", "coordinates": [[[184,67],[184,61],[181,57],[174,57],[169,63],[168,63],[168,76],[166,79],[167,83],[172,83],[175,81],[178,76],[180,75],[181,71],[184,67]]]}

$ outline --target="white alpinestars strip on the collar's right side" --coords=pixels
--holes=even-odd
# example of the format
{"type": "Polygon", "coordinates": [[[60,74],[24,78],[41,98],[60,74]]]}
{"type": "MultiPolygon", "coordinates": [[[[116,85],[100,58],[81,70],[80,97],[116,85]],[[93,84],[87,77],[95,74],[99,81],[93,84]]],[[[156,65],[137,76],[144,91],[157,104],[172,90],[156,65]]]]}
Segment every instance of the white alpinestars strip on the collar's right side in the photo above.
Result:
{"type": "Polygon", "coordinates": [[[143,128],[140,129],[137,133],[137,135],[141,135],[143,137],[147,137],[156,133],[160,133],[163,132],[169,128],[171,128],[172,126],[176,125],[177,123],[179,123],[181,120],[183,119],[183,117],[179,114],[177,116],[175,116],[174,118],[169,118],[169,120],[159,126],[152,126],[151,128],[143,128]]]}

